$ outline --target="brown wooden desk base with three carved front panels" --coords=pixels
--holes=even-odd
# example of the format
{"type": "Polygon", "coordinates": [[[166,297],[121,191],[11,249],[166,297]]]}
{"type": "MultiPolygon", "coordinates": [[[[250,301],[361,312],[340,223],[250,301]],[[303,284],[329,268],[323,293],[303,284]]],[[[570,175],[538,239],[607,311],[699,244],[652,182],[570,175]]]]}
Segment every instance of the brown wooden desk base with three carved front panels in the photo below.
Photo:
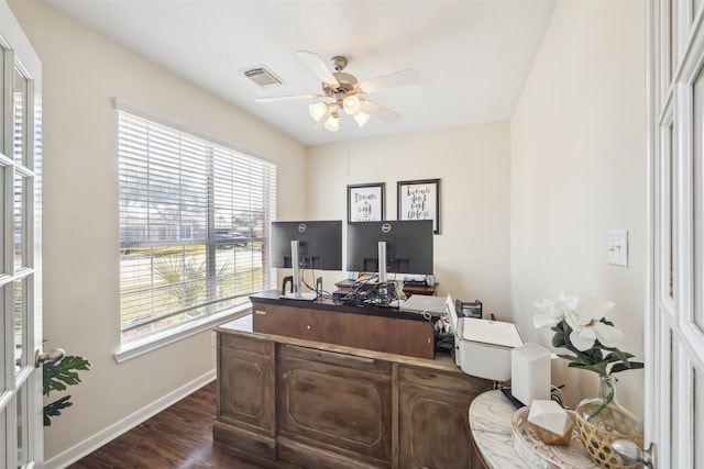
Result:
{"type": "MultiPolygon", "coordinates": [[[[253,305],[268,315],[272,303],[253,305]]],[[[308,306],[286,314],[322,311],[308,306]]],[[[462,373],[447,354],[427,359],[305,340],[257,332],[255,321],[217,330],[216,442],[264,467],[276,459],[319,469],[475,467],[466,416],[491,381],[462,373]]]]}

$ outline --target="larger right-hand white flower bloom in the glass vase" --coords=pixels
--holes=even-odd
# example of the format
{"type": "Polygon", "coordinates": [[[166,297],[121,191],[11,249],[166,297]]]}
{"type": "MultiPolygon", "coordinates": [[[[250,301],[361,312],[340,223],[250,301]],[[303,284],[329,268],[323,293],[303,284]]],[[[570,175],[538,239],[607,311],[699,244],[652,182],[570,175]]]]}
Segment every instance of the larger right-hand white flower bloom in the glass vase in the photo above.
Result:
{"type": "Polygon", "coordinates": [[[597,301],[583,303],[565,312],[564,320],[572,328],[570,342],[578,350],[584,351],[592,348],[596,340],[605,347],[616,347],[624,338],[620,330],[602,322],[612,308],[614,308],[612,301],[597,301]]]}

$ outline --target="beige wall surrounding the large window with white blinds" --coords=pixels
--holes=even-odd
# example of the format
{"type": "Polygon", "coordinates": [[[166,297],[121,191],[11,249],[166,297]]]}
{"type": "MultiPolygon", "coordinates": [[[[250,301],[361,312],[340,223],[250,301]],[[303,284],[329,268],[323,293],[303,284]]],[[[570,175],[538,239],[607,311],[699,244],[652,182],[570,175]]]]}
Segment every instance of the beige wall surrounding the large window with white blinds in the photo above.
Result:
{"type": "Polygon", "coordinates": [[[44,336],[94,369],[45,432],[52,459],[212,372],[202,333],[118,365],[117,114],[121,98],[279,164],[280,215],[300,216],[305,147],[34,0],[10,1],[44,69],[44,336]],[[283,177],[282,175],[285,175],[283,177]]]}

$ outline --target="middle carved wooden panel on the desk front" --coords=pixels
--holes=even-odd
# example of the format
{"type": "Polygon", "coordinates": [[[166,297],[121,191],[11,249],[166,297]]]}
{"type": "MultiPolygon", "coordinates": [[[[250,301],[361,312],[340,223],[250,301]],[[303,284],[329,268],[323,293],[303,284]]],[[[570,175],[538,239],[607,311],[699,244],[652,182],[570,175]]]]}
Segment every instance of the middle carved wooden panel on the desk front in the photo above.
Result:
{"type": "MultiPolygon", "coordinates": [[[[391,467],[391,364],[282,346],[278,376],[280,436],[346,455],[350,464],[358,461],[350,467],[391,467]]],[[[299,464],[323,467],[310,459],[299,464]]]]}

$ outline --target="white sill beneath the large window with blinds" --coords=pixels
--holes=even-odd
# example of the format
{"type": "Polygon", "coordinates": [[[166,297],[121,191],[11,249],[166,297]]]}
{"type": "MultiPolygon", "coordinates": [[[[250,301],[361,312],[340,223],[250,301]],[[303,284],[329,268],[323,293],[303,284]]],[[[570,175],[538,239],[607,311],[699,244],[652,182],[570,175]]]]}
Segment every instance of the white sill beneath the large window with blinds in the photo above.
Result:
{"type": "Polygon", "coordinates": [[[251,311],[251,303],[242,304],[222,313],[189,321],[186,324],[172,327],[168,331],[151,334],[147,337],[129,342],[122,345],[120,351],[116,351],[114,359],[118,364],[122,364],[186,337],[190,337],[191,335],[200,334],[204,331],[210,331],[220,324],[249,314],[251,311]]]}

